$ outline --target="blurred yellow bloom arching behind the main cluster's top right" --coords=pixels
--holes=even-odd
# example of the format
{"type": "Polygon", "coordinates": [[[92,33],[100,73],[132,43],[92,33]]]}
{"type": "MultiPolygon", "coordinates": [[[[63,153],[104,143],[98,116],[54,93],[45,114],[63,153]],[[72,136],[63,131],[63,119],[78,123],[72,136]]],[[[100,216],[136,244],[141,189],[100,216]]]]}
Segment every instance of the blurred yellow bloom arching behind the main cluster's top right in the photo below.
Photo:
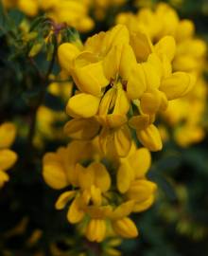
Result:
{"type": "Polygon", "coordinates": [[[125,24],[130,32],[145,29],[149,37],[158,42],[166,35],[171,35],[176,40],[176,55],[173,68],[176,71],[199,72],[204,64],[206,45],[195,37],[195,26],[190,20],[180,20],[177,12],[160,3],[154,10],[140,9],[136,15],[121,13],[117,23],[125,24]]]}

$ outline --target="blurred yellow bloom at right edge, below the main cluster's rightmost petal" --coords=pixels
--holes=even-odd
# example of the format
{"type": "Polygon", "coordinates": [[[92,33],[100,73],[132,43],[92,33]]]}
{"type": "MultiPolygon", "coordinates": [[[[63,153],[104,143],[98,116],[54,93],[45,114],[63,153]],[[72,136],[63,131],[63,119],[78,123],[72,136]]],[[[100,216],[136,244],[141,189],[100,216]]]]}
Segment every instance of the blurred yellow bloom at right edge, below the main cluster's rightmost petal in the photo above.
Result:
{"type": "Polygon", "coordinates": [[[182,147],[197,143],[205,136],[203,117],[206,109],[206,82],[199,79],[183,99],[172,101],[163,113],[165,122],[173,127],[173,137],[182,147]]]}

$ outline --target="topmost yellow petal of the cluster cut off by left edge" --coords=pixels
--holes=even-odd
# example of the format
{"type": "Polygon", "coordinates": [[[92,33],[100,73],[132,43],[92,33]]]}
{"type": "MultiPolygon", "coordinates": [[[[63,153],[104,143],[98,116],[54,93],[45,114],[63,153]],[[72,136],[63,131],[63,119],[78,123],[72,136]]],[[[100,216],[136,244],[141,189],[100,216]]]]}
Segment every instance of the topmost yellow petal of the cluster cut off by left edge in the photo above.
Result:
{"type": "Polygon", "coordinates": [[[16,127],[11,122],[0,125],[0,149],[9,148],[16,136],[16,127]]]}

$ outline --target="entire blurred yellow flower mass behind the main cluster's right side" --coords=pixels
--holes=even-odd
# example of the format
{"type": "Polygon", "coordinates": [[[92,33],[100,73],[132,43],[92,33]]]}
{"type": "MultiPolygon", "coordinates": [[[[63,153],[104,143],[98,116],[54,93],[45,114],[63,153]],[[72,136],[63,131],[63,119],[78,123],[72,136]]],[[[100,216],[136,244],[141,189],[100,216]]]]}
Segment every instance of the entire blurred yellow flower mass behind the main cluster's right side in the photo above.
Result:
{"type": "Polygon", "coordinates": [[[197,83],[186,97],[171,101],[162,117],[173,128],[173,136],[181,146],[201,140],[204,137],[201,122],[205,113],[207,90],[201,74],[206,44],[196,38],[193,22],[180,20],[175,9],[160,3],[155,9],[140,9],[137,14],[120,13],[117,23],[125,24],[131,33],[145,29],[154,42],[159,42],[164,36],[174,37],[176,54],[172,62],[173,70],[194,74],[197,83]]]}

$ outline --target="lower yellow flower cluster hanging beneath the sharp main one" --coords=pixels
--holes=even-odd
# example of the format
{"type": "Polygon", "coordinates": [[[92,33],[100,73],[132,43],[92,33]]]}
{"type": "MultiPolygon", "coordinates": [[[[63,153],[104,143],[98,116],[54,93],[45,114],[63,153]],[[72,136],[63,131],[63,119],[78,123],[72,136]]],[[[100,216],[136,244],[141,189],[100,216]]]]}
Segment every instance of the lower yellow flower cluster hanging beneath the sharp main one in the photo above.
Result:
{"type": "Polygon", "coordinates": [[[67,207],[71,224],[81,223],[86,237],[101,242],[112,231],[123,238],[138,235],[131,212],[147,210],[156,184],[147,180],[150,154],[132,144],[127,157],[103,155],[97,137],[72,141],[43,157],[43,177],[56,190],[65,189],[56,208],[67,207]]]}

